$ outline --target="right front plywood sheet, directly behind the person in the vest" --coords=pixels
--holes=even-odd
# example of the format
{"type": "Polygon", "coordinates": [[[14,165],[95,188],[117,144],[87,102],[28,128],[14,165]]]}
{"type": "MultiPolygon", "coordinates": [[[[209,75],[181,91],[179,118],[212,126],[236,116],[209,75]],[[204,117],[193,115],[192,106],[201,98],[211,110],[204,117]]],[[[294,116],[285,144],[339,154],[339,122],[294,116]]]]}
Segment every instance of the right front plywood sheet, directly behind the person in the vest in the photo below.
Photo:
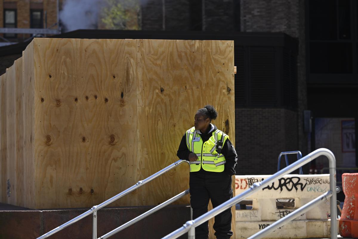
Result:
{"type": "MultiPolygon", "coordinates": [[[[213,123],[232,135],[234,144],[233,42],[137,40],[137,47],[138,144],[143,157],[139,175],[145,178],[175,161],[183,134],[193,126],[196,111],[207,104],[216,107],[219,115],[213,123]]],[[[156,205],[188,185],[188,168],[182,165],[146,185],[138,197],[156,205]]],[[[189,197],[175,203],[189,204],[189,197]]],[[[214,238],[213,220],[209,223],[214,238]]],[[[233,230],[234,223],[233,217],[233,230]]]]}

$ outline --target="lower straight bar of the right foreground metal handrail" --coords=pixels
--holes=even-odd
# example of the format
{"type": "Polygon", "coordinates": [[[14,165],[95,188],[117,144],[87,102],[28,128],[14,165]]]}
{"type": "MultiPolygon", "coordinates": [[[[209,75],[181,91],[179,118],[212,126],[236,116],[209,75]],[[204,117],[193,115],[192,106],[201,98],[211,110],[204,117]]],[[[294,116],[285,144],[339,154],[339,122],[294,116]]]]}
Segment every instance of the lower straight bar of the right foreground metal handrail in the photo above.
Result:
{"type": "MultiPolygon", "coordinates": [[[[263,238],[264,236],[267,236],[273,230],[279,228],[280,226],[285,225],[286,223],[288,223],[291,220],[294,220],[297,216],[299,216],[300,214],[303,214],[304,212],[312,209],[317,204],[322,203],[324,200],[332,198],[333,194],[335,194],[335,192],[332,192],[332,191],[328,191],[328,192],[323,193],[319,197],[316,197],[314,200],[308,202],[307,204],[305,204],[304,206],[300,207],[299,209],[296,209],[295,211],[293,211],[289,215],[286,215],[285,217],[281,218],[280,220],[275,221],[274,223],[272,223],[267,228],[265,228],[265,229],[263,229],[261,231],[258,231],[256,234],[250,236],[247,239],[260,239],[260,238],[263,238]]],[[[336,238],[337,238],[337,235],[336,235],[336,238]]]]}

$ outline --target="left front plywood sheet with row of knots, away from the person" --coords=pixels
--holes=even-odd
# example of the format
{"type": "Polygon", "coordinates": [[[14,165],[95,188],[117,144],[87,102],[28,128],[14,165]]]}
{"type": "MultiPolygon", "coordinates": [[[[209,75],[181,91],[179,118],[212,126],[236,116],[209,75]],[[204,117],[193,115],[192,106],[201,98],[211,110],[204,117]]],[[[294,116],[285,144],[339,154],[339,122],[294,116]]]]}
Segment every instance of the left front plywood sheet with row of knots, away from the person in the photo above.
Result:
{"type": "Polygon", "coordinates": [[[138,181],[135,51],[135,40],[34,41],[36,207],[93,206],[138,181]]]}

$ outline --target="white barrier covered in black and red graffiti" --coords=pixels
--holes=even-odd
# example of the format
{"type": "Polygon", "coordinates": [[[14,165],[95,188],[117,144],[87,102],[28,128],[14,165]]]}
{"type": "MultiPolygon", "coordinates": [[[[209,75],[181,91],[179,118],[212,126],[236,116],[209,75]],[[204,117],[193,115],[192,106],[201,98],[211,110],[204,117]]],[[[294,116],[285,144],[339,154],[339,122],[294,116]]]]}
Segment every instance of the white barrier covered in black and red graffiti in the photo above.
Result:
{"type": "MultiPolygon", "coordinates": [[[[236,176],[236,195],[269,176],[236,176]]],[[[285,175],[240,203],[235,215],[236,238],[248,238],[327,191],[329,174],[285,175]]],[[[326,200],[265,238],[330,237],[329,218],[330,202],[326,200]]]]}

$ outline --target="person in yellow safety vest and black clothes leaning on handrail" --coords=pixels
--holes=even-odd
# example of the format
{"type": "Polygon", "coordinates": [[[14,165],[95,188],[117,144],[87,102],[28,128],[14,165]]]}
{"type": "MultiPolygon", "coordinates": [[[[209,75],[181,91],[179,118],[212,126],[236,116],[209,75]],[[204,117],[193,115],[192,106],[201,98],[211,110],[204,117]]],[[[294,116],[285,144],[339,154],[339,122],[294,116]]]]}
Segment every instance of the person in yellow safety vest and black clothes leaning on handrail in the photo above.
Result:
{"type": "MultiPolygon", "coordinates": [[[[193,219],[208,211],[209,199],[213,207],[232,198],[232,175],[235,175],[237,154],[229,136],[211,124],[218,113],[213,106],[199,109],[194,127],[187,130],[180,142],[177,156],[190,161],[190,204],[193,219]]],[[[231,231],[231,208],[215,216],[217,239],[228,239],[231,231]]],[[[195,228],[196,239],[209,235],[208,221],[195,228]]]]}

